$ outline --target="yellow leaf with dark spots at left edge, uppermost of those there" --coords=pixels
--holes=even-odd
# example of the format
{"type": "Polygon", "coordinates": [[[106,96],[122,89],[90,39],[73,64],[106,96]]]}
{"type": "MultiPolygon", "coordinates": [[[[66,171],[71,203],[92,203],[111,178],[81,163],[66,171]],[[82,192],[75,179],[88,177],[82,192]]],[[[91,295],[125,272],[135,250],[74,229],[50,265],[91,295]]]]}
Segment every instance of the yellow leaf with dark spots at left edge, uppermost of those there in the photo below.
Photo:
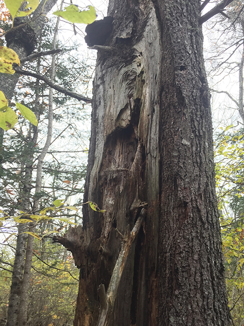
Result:
{"type": "Polygon", "coordinates": [[[20,65],[20,59],[15,51],[6,46],[0,46],[0,72],[14,74],[12,64],[20,65]]]}

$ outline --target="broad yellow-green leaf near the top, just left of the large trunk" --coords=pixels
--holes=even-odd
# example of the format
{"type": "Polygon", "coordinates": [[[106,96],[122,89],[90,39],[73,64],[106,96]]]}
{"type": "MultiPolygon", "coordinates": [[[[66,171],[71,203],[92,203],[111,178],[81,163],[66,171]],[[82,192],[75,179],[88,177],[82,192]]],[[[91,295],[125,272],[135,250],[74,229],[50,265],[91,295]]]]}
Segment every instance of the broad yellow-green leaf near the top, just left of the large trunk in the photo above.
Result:
{"type": "Polygon", "coordinates": [[[89,10],[80,11],[76,5],[71,4],[64,10],[57,10],[53,14],[73,23],[91,24],[97,18],[95,8],[88,6],[89,10]]]}

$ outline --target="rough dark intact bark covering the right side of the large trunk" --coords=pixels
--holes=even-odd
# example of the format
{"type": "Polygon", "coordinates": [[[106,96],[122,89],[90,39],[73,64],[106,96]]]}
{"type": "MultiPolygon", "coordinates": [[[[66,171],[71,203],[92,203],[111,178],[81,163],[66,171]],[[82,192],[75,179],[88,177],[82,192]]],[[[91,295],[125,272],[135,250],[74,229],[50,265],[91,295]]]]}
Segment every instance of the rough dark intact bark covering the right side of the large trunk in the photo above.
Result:
{"type": "Polygon", "coordinates": [[[166,54],[160,118],[159,325],[229,324],[197,10],[197,1],[163,1],[159,6],[166,54]]]}

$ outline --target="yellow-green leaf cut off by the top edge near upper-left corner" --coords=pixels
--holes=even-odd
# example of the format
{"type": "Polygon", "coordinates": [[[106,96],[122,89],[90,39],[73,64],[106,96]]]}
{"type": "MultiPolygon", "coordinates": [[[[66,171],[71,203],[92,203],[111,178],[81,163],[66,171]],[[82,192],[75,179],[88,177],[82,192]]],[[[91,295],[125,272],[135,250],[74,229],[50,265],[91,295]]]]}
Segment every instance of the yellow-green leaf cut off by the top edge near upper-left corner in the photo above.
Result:
{"type": "Polygon", "coordinates": [[[16,16],[27,16],[39,5],[39,0],[4,0],[4,2],[13,18],[16,16]],[[20,11],[23,2],[26,3],[26,6],[24,7],[24,11],[20,11]]]}

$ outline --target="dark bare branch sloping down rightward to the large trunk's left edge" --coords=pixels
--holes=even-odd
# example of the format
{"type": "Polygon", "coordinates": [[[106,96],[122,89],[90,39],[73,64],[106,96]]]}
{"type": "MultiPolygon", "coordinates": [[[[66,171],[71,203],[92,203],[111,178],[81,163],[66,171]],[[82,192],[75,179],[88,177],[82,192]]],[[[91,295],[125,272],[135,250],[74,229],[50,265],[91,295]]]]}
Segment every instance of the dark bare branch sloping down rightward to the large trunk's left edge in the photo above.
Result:
{"type": "Polygon", "coordinates": [[[42,80],[43,82],[45,82],[48,86],[52,87],[53,89],[56,89],[58,90],[59,92],[65,94],[65,95],[68,95],[70,97],[73,97],[73,98],[76,98],[78,101],[84,101],[86,103],[91,103],[92,102],[92,99],[88,98],[88,97],[84,97],[84,96],[81,96],[80,94],[77,94],[77,93],[74,93],[64,87],[61,87],[59,85],[56,85],[54,83],[52,83],[50,81],[50,79],[48,79],[47,77],[45,76],[41,76],[37,73],[34,73],[34,72],[31,72],[31,71],[26,71],[26,70],[21,70],[15,66],[13,66],[15,72],[17,72],[18,74],[20,75],[25,75],[25,76],[31,76],[31,77],[34,77],[34,78],[37,78],[37,79],[40,79],[42,80]]]}

